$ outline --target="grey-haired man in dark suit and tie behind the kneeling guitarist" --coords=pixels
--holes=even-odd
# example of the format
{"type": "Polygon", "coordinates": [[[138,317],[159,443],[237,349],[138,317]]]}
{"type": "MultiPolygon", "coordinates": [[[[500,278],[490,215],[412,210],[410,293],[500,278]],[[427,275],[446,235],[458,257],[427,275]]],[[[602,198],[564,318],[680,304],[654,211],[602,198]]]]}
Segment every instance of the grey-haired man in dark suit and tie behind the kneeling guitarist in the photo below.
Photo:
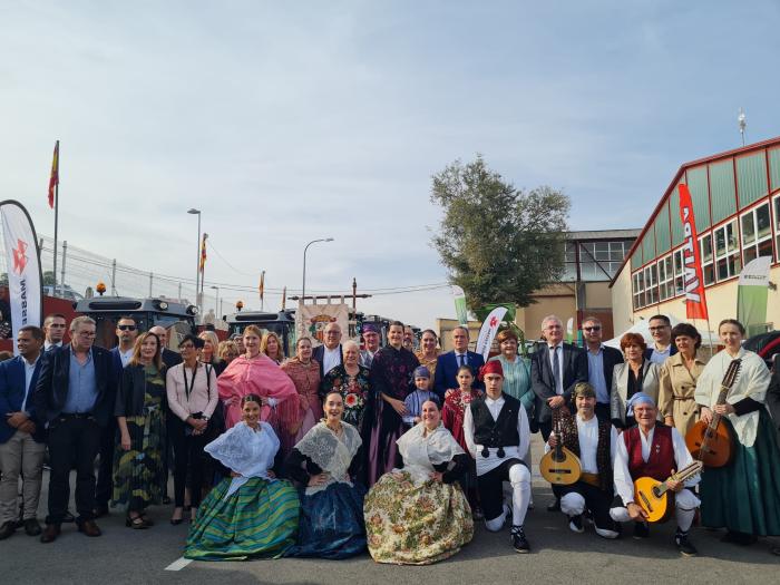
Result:
{"type": "MultiPolygon", "coordinates": [[[[553,410],[568,413],[574,387],[587,382],[587,358],[579,348],[563,342],[564,325],[555,315],[544,318],[542,335],[545,342],[530,358],[530,386],[536,394],[536,422],[546,441],[553,430],[553,410]]],[[[560,497],[555,488],[553,493],[556,498],[547,506],[548,511],[560,509],[560,497]]]]}

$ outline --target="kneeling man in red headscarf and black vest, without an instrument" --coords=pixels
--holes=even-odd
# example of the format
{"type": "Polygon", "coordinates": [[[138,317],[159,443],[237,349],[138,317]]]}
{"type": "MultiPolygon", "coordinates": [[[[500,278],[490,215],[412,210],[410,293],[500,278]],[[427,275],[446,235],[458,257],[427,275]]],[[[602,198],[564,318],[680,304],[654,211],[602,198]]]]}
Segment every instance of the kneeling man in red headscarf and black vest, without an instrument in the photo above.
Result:
{"type": "Polygon", "coordinates": [[[477,462],[485,526],[498,532],[511,513],[511,545],[518,553],[528,553],[524,523],[530,500],[530,470],[523,461],[530,442],[528,417],[519,400],[501,392],[501,362],[487,362],[479,377],[485,382],[485,396],[466,409],[464,435],[477,462]],[[504,503],[504,481],[511,484],[511,507],[504,503]]]}

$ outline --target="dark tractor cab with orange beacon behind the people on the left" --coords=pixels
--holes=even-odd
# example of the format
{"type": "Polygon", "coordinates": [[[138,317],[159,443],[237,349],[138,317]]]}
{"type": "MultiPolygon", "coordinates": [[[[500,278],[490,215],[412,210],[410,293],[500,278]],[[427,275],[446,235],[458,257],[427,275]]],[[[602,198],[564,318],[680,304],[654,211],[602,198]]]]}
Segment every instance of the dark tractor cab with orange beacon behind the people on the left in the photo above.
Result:
{"type": "Polygon", "coordinates": [[[167,299],[130,299],[126,296],[95,296],[75,303],[75,310],[91,316],[97,323],[95,344],[113,348],[117,344],[116,324],[121,316],[135,319],[139,331],[155,325],[168,330],[168,347],[175,348],[178,340],[195,331],[197,308],[167,299]]]}

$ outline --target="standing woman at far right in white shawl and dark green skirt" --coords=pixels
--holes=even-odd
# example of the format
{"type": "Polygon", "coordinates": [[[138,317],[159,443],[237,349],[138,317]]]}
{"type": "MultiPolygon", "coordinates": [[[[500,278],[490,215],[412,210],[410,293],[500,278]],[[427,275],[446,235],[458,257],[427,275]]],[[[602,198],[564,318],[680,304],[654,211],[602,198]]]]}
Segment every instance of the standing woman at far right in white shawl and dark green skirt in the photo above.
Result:
{"type": "Polygon", "coordinates": [[[718,326],[725,349],[712,357],[696,382],[701,419],[721,415],[733,438],[731,462],[702,474],[702,524],[725,527],[724,542],[748,545],[758,536],[780,535],[780,451],[764,408],[770,374],[763,360],[742,344],[744,326],[725,319],[718,326]],[[741,360],[724,404],[718,404],[729,364],[741,360]]]}

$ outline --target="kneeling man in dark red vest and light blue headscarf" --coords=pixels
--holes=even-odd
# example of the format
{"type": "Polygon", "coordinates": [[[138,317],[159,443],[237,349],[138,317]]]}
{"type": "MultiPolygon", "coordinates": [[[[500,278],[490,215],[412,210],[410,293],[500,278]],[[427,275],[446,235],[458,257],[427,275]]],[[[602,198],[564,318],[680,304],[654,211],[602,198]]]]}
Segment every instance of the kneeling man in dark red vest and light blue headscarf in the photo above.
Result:
{"type": "Polygon", "coordinates": [[[634,501],[634,480],[652,477],[666,481],[674,493],[677,530],[674,544],[684,556],[694,556],[696,548],[689,539],[689,530],[700,505],[691,488],[699,482],[699,476],[686,481],[667,479],[676,469],[693,462],[685,447],[685,440],[674,427],[656,423],[659,409],[647,394],[638,392],[628,402],[630,411],[636,419],[636,427],[624,430],[615,449],[615,491],[620,506],[610,510],[612,519],[620,523],[634,521],[634,538],[650,536],[645,511],[634,501]]]}

